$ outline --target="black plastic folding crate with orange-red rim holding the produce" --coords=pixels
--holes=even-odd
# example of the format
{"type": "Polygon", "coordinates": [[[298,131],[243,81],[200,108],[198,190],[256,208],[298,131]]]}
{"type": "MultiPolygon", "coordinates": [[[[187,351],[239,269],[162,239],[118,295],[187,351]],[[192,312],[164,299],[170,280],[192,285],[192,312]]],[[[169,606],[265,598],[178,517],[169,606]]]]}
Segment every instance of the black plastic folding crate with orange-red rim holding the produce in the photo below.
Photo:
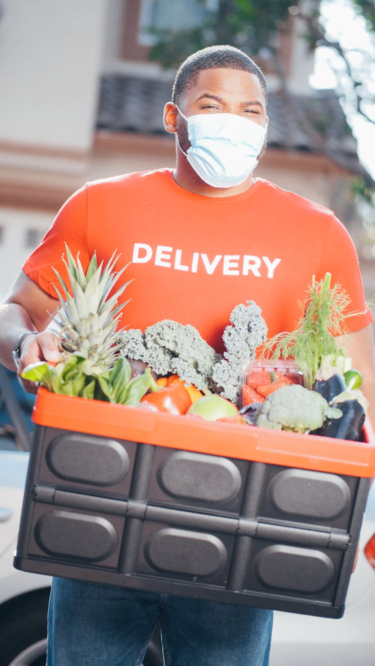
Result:
{"type": "Polygon", "coordinates": [[[375,438],[299,435],[39,389],[15,567],[341,617],[375,438]]]}

